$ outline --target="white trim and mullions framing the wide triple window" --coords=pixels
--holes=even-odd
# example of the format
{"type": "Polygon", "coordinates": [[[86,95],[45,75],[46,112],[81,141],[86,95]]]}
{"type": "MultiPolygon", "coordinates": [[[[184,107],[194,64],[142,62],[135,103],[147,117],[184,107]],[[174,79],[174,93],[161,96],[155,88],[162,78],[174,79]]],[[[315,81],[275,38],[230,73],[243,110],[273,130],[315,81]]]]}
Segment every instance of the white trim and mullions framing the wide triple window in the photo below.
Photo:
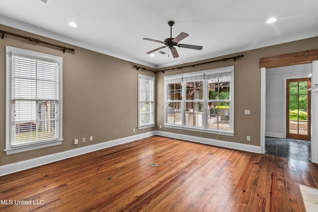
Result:
{"type": "MultiPolygon", "coordinates": [[[[207,94],[207,84],[206,79],[204,77],[204,108],[207,108],[207,102],[208,100],[208,94],[207,94]]],[[[219,134],[219,135],[226,135],[226,136],[234,136],[234,66],[231,67],[224,67],[224,68],[218,68],[218,69],[210,69],[210,70],[204,70],[204,71],[195,71],[195,72],[189,72],[189,73],[183,73],[183,74],[175,74],[175,75],[169,75],[164,76],[164,127],[167,128],[174,128],[178,130],[189,130],[189,131],[196,131],[196,132],[204,132],[204,133],[212,133],[212,134],[219,134]],[[222,73],[222,72],[230,72],[231,71],[231,86],[230,86],[230,129],[229,130],[220,130],[220,129],[211,129],[207,128],[207,111],[203,110],[203,127],[194,127],[194,126],[186,126],[184,124],[184,118],[185,118],[185,107],[184,104],[186,102],[185,99],[185,89],[186,84],[183,81],[183,78],[191,77],[191,76],[200,76],[200,75],[208,75],[208,74],[214,74],[214,73],[222,73]],[[182,124],[181,125],[173,125],[173,124],[167,124],[167,81],[173,80],[173,81],[180,81],[182,82],[182,100],[181,104],[183,105],[181,116],[182,116],[182,124]]]]}

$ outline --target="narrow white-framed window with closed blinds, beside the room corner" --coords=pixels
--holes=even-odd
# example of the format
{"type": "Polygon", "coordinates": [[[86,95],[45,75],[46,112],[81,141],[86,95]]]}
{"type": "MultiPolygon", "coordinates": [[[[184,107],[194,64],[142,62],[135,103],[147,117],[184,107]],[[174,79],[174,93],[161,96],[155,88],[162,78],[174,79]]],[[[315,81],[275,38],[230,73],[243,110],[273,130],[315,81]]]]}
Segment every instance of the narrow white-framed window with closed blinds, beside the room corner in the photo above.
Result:
{"type": "Polygon", "coordinates": [[[154,127],[155,78],[142,74],[138,74],[138,78],[138,129],[154,127]]]}

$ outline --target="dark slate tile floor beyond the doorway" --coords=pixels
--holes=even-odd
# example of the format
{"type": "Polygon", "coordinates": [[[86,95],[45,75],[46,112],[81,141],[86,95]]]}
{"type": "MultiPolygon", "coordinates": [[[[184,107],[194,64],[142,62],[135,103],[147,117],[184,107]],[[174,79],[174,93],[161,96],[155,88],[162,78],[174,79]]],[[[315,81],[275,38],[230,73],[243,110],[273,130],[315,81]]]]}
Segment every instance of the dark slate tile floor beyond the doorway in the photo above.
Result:
{"type": "Polygon", "coordinates": [[[311,162],[310,141],[266,137],[266,154],[311,162]]]}

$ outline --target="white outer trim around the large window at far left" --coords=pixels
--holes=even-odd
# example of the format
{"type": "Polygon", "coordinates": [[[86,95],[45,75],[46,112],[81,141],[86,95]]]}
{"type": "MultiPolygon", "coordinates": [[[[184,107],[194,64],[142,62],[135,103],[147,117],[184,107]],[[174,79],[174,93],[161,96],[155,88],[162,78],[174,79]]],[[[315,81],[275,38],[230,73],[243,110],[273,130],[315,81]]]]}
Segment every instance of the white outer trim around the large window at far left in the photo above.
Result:
{"type": "Polygon", "coordinates": [[[60,145],[63,141],[63,58],[47,55],[43,53],[33,52],[29,50],[19,49],[15,47],[6,46],[6,85],[5,85],[5,153],[14,154],[54,145],[60,145]],[[58,138],[50,141],[43,141],[38,143],[27,144],[24,146],[12,147],[11,143],[11,72],[12,72],[12,53],[27,58],[39,59],[59,63],[59,107],[58,107],[58,138]]]}

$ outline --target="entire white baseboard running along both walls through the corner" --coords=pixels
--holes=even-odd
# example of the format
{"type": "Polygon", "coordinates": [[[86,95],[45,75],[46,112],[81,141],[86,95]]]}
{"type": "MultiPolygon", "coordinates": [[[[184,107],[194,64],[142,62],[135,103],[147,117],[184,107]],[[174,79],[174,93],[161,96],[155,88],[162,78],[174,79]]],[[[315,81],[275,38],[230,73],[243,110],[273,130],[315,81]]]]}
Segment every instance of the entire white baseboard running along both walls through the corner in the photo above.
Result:
{"type": "Polygon", "coordinates": [[[147,138],[150,136],[165,136],[169,138],[175,138],[175,139],[182,139],[186,141],[194,141],[199,143],[205,143],[215,146],[221,146],[221,147],[227,147],[232,149],[238,149],[243,151],[250,151],[250,152],[257,152],[260,153],[261,147],[255,146],[255,145],[248,145],[248,144],[242,144],[242,143],[235,143],[235,142],[229,142],[229,141],[220,141],[220,140],[214,140],[214,139],[206,139],[206,138],[200,138],[195,136],[187,136],[187,135],[181,135],[181,134],[175,134],[175,133],[167,133],[162,131],[152,131],[144,134],[139,134],[136,136],[131,136],[127,138],[117,139],[113,141],[106,141],[102,143],[96,143],[89,146],[84,146],[81,148],[71,149],[68,151],[58,152],[55,154],[49,154],[42,157],[36,157],[29,160],[23,160],[16,163],[10,163],[7,165],[0,166],[0,176],[11,174],[14,172],[22,171],[25,169],[33,168],[36,166],[41,166],[44,164],[56,162],[59,160],[67,159],[70,157],[74,157],[77,155],[85,154],[88,152],[96,151],[99,149],[108,148],[111,146],[136,141],[138,139],[147,138]]]}

